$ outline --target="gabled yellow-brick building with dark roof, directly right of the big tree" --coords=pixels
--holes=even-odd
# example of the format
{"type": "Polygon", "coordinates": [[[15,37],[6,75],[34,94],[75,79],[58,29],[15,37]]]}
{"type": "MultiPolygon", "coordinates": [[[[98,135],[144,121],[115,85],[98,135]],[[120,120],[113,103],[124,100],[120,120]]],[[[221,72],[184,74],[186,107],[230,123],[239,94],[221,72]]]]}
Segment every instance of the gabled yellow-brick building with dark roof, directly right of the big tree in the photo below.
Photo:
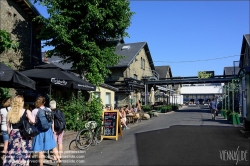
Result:
{"type": "MultiPolygon", "coordinates": [[[[124,58],[112,67],[112,74],[105,83],[118,88],[115,96],[116,106],[135,105],[137,101],[144,102],[144,79],[158,79],[154,63],[146,42],[119,43],[116,54],[124,58]]],[[[148,87],[150,89],[151,87],[148,87]]]]}

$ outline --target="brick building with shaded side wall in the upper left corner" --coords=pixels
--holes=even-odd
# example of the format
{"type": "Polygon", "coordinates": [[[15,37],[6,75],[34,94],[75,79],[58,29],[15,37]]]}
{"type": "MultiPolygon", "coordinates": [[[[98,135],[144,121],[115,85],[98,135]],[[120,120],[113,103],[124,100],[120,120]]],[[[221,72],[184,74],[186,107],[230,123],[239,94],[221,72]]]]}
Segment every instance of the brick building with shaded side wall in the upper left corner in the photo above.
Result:
{"type": "Polygon", "coordinates": [[[30,69],[41,64],[41,41],[36,38],[41,26],[33,21],[39,15],[28,0],[0,1],[0,29],[6,30],[11,39],[19,43],[17,52],[4,52],[0,60],[13,69],[30,69]]]}

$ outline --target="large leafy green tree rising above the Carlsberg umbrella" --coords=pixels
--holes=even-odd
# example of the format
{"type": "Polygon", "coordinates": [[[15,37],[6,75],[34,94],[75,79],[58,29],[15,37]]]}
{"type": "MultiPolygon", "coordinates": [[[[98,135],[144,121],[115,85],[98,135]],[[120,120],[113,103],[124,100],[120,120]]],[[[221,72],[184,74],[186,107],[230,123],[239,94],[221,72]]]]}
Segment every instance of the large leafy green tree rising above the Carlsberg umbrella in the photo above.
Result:
{"type": "Polygon", "coordinates": [[[43,24],[39,38],[47,51],[73,62],[73,68],[95,85],[103,83],[122,58],[108,39],[128,36],[133,12],[128,0],[35,0],[47,7],[49,18],[37,17],[43,24]]]}

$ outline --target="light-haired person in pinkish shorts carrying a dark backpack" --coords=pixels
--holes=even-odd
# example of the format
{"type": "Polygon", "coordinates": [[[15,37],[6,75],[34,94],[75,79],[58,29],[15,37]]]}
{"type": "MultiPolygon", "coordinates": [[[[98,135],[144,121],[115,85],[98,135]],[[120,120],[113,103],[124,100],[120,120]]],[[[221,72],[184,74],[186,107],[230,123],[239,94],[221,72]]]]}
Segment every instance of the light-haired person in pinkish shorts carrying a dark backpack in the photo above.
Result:
{"type": "MultiPolygon", "coordinates": [[[[62,158],[63,134],[64,134],[64,129],[66,127],[65,116],[61,110],[58,110],[56,108],[56,101],[54,100],[50,102],[50,109],[53,111],[54,114],[54,123],[52,125],[52,130],[55,141],[57,143],[59,157],[62,158]]],[[[54,160],[56,160],[56,156],[54,156],[54,160]]]]}

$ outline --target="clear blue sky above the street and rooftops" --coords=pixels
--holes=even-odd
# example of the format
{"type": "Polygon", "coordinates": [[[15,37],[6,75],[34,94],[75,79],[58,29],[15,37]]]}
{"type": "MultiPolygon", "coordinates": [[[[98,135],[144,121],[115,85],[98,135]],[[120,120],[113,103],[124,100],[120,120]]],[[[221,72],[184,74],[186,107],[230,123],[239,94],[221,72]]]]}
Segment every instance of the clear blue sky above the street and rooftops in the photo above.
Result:
{"type": "MultiPolygon", "coordinates": [[[[45,7],[35,7],[48,17],[45,7]]],[[[238,66],[243,35],[250,33],[247,0],[131,0],[130,9],[125,43],[147,42],[154,65],[170,66],[173,77],[223,75],[224,67],[238,66]]]]}

